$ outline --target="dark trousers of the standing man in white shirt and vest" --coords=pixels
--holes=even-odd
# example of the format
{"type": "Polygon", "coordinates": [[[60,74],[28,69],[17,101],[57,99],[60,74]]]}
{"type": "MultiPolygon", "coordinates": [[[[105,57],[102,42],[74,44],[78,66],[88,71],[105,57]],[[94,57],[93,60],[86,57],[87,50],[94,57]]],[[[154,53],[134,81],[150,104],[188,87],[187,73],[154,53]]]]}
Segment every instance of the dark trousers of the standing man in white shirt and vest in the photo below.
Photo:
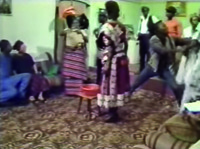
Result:
{"type": "Polygon", "coordinates": [[[140,72],[144,69],[146,62],[150,58],[149,39],[149,34],[140,34],[138,37],[140,45],[140,72]]]}

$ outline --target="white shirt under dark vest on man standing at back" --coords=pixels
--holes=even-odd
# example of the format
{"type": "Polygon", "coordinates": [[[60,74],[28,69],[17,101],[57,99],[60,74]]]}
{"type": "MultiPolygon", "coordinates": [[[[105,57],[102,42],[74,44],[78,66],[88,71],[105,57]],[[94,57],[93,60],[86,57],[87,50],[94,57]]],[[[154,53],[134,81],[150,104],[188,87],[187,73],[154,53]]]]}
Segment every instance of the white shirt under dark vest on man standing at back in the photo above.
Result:
{"type": "MultiPolygon", "coordinates": [[[[141,34],[148,34],[149,33],[149,31],[148,31],[149,30],[148,29],[149,17],[150,17],[150,14],[148,14],[148,16],[146,18],[144,16],[140,17],[138,33],[141,33],[141,34]]],[[[153,23],[157,23],[159,21],[159,19],[156,18],[155,16],[151,16],[151,17],[152,17],[153,23]]]]}

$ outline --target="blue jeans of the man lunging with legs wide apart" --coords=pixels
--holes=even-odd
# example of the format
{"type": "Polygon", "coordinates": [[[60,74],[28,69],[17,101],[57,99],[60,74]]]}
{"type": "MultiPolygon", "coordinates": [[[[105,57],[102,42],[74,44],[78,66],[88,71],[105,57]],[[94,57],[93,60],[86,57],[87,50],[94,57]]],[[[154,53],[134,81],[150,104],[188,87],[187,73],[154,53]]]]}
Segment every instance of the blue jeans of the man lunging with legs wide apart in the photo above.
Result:
{"type": "Polygon", "coordinates": [[[131,93],[134,92],[138,87],[140,87],[143,83],[145,83],[147,80],[149,80],[151,77],[154,77],[154,76],[159,76],[160,78],[166,81],[167,85],[173,91],[178,101],[178,104],[180,105],[182,95],[183,95],[183,90],[182,90],[182,87],[176,83],[174,76],[171,74],[168,68],[163,69],[163,71],[157,73],[157,72],[154,72],[152,67],[147,64],[144,70],[135,80],[134,84],[131,86],[131,90],[130,90],[131,93]]]}

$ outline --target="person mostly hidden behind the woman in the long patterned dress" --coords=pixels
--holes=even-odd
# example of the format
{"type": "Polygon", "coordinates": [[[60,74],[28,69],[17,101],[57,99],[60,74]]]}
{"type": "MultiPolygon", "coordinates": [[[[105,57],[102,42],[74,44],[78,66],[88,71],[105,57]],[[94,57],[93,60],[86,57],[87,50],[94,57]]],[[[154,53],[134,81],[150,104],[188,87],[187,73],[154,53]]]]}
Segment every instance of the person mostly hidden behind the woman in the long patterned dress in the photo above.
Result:
{"type": "MultiPolygon", "coordinates": [[[[104,9],[100,9],[99,10],[99,17],[98,17],[98,21],[100,23],[99,28],[94,30],[94,35],[96,38],[98,38],[99,36],[99,32],[101,30],[101,27],[107,22],[107,14],[106,11],[104,9]]],[[[97,44],[97,43],[96,43],[97,44]]],[[[98,48],[98,44],[97,44],[97,48],[98,48]]],[[[102,63],[101,63],[101,59],[102,59],[102,54],[101,54],[101,50],[98,48],[97,51],[97,58],[96,58],[96,65],[97,65],[97,84],[100,85],[101,84],[101,79],[102,79],[102,63]]]]}

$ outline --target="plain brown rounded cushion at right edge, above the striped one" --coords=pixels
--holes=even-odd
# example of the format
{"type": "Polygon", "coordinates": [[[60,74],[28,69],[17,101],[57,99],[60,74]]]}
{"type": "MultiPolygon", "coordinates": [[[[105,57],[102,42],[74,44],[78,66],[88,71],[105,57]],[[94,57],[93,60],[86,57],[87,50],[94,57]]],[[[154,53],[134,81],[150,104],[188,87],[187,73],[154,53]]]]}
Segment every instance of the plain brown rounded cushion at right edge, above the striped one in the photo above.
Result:
{"type": "Polygon", "coordinates": [[[190,115],[175,115],[163,127],[176,139],[195,143],[200,139],[200,119],[190,115]]]}

